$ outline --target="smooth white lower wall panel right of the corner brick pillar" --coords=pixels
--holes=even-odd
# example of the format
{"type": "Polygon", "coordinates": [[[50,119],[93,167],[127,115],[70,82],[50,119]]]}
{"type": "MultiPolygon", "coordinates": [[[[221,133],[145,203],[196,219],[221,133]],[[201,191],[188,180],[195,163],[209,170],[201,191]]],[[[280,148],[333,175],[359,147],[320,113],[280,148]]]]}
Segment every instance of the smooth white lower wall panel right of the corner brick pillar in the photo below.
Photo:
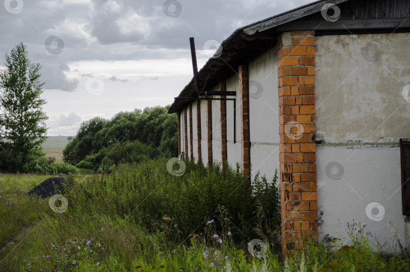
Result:
{"type": "Polygon", "coordinates": [[[365,223],[365,231],[382,244],[392,245],[396,237],[405,245],[405,231],[410,229],[401,210],[399,147],[323,146],[316,148],[316,156],[319,239],[330,235],[348,244],[347,223],[354,220],[365,223]],[[377,208],[367,208],[381,220],[366,215],[371,203],[384,208],[383,217],[377,208]]]}

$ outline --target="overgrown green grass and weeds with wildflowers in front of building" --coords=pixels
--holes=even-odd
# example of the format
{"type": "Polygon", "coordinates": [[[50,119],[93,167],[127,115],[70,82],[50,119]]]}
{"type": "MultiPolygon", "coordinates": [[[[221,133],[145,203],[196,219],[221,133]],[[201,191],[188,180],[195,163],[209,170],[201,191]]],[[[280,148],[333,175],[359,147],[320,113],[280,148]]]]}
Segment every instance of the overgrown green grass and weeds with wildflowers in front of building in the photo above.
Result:
{"type": "MultiPolygon", "coordinates": [[[[350,246],[306,241],[305,251],[283,259],[261,228],[266,247],[253,249],[264,249],[255,257],[247,243],[257,238],[253,228],[262,218],[252,210],[261,207],[240,175],[186,162],[178,177],[166,163],[73,176],[62,213],[52,211],[49,198],[27,196],[50,176],[0,174],[0,271],[410,271],[407,249],[381,257],[362,230],[350,246]]],[[[261,184],[254,186],[266,191],[261,184]]]]}

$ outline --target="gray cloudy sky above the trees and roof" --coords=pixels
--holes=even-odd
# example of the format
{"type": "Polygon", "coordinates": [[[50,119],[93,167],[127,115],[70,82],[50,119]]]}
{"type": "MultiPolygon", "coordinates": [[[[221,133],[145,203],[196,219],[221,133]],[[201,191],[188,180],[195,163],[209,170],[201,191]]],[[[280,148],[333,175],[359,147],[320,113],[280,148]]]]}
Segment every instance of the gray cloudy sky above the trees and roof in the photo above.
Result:
{"type": "Polygon", "coordinates": [[[49,135],[72,135],[95,116],[172,103],[192,77],[189,37],[202,67],[208,41],[310,2],[4,0],[0,69],[23,42],[43,66],[49,135]]]}

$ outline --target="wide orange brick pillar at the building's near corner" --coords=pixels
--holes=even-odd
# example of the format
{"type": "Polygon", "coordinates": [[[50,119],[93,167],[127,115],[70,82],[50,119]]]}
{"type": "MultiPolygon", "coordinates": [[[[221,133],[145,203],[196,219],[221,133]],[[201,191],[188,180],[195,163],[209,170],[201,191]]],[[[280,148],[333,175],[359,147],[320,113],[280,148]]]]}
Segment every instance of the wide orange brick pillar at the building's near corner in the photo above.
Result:
{"type": "Polygon", "coordinates": [[[282,253],[317,239],[314,31],[278,38],[282,253]]]}

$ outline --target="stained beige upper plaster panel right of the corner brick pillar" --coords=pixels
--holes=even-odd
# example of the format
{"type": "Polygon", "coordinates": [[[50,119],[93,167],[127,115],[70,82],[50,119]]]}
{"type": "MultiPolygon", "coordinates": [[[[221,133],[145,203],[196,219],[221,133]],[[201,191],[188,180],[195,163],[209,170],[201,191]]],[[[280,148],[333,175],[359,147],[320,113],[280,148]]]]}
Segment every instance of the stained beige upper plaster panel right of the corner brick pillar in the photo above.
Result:
{"type": "Polygon", "coordinates": [[[410,33],[315,39],[316,139],[374,143],[409,137],[403,122],[410,121],[410,103],[402,91],[410,84],[410,33]],[[366,50],[371,56],[378,51],[379,60],[366,61],[366,50]]]}

